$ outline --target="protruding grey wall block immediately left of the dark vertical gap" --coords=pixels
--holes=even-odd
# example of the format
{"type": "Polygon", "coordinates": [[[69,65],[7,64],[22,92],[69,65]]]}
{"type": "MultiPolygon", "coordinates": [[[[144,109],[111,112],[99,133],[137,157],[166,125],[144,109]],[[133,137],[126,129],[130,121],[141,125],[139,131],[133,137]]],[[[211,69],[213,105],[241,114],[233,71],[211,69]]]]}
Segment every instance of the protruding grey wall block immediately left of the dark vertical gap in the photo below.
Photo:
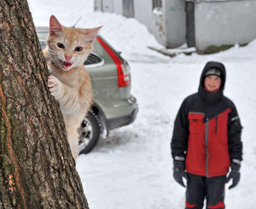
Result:
{"type": "Polygon", "coordinates": [[[134,0],[134,16],[166,48],[186,42],[185,0],[162,0],[162,9],[154,9],[152,0],[134,0]]]}

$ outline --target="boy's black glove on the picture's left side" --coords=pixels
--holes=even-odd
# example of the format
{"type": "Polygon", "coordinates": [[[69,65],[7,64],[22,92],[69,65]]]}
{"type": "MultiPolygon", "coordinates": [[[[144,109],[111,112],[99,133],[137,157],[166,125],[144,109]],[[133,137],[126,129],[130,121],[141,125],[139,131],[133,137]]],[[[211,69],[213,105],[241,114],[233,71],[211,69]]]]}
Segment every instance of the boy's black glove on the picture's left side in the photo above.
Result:
{"type": "Polygon", "coordinates": [[[188,173],[185,172],[184,160],[173,160],[173,177],[177,183],[186,187],[183,183],[183,177],[188,180],[188,173]]]}

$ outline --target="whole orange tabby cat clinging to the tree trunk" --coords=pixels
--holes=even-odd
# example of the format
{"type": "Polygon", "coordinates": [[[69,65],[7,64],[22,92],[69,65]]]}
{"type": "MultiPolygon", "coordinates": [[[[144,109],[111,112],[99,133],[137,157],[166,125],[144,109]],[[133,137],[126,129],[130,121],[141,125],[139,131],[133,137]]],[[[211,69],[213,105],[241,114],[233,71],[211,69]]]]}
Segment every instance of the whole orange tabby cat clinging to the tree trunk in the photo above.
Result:
{"type": "Polygon", "coordinates": [[[44,49],[50,73],[48,87],[60,103],[74,160],[79,155],[77,129],[92,101],[90,78],[84,61],[93,49],[93,41],[100,28],[70,28],[61,26],[53,15],[49,19],[49,38],[44,49]]]}

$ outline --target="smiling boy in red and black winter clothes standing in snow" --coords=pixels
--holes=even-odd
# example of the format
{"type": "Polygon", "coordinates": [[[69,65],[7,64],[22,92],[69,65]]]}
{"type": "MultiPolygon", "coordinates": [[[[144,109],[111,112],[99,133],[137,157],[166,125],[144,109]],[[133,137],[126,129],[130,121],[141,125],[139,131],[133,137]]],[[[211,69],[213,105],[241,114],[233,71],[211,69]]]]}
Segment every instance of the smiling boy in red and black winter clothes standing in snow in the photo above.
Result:
{"type": "Polygon", "coordinates": [[[180,107],[172,136],[173,177],[185,186],[186,208],[224,209],[224,183],[240,179],[241,124],[233,102],[223,95],[225,67],[209,61],[199,90],[180,107]],[[231,169],[230,174],[226,177],[231,169]]]}

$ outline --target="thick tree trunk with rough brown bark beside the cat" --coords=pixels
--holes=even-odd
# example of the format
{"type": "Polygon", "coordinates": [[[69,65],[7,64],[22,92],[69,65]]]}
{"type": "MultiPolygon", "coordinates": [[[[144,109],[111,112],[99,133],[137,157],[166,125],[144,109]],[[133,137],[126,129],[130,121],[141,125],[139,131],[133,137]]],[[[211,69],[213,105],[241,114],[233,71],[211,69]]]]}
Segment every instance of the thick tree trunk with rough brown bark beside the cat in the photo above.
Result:
{"type": "Polygon", "coordinates": [[[0,208],[89,208],[26,0],[0,1],[0,208]]]}

